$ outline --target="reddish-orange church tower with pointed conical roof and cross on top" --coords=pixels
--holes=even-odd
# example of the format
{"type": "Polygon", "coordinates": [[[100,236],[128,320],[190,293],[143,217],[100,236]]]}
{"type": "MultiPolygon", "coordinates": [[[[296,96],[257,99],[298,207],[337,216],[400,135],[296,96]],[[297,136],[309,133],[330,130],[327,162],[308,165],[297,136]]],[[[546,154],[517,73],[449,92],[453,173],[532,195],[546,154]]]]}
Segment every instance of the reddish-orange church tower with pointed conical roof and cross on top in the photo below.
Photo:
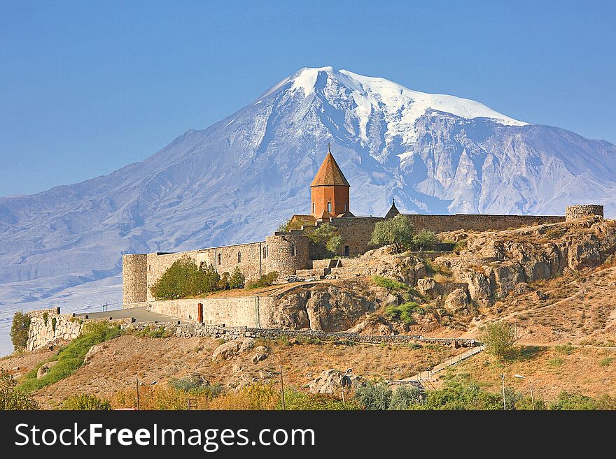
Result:
{"type": "Polygon", "coordinates": [[[349,182],[344,178],[328,145],[328,154],[310,184],[310,210],[317,220],[353,217],[349,210],[349,182]]]}

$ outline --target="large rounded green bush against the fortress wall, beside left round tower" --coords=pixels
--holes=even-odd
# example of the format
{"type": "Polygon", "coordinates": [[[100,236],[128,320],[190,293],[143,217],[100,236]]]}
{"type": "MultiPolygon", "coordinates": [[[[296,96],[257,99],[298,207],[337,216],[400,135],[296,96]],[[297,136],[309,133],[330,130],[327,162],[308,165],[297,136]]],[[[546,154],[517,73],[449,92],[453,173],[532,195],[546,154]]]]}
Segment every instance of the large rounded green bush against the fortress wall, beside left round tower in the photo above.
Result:
{"type": "Polygon", "coordinates": [[[213,265],[197,263],[188,256],[174,261],[151,288],[157,300],[200,296],[220,288],[221,276],[213,265]]]}

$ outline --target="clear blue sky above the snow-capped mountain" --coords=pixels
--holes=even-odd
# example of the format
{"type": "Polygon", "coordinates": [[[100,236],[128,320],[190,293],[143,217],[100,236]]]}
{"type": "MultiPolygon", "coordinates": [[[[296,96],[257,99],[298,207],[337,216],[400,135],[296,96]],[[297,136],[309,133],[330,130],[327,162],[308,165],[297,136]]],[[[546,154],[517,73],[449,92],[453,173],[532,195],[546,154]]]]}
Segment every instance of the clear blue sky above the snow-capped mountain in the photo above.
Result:
{"type": "Polygon", "coordinates": [[[615,1],[0,0],[0,196],[140,161],[302,67],[616,143],[615,1]]]}

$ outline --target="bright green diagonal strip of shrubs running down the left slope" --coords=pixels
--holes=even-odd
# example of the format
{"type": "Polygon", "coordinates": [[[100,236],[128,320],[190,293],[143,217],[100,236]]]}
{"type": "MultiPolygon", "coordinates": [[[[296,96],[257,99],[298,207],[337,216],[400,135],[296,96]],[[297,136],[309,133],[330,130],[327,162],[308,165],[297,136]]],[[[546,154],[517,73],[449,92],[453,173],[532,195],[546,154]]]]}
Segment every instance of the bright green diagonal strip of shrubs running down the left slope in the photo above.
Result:
{"type": "Polygon", "coordinates": [[[86,323],[81,330],[81,334],[66,347],[60,349],[49,360],[36,366],[34,370],[27,372],[20,380],[19,388],[23,391],[35,391],[69,377],[83,365],[83,358],[85,358],[85,354],[90,350],[90,347],[120,335],[122,335],[120,326],[111,326],[109,322],[94,321],[86,323]],[[36,372],[38,368],[44,363],[51,361],[57,361],[57,363],[50,367],[47,374],[43,375],[41,379],[37,379],[36,372]]]}

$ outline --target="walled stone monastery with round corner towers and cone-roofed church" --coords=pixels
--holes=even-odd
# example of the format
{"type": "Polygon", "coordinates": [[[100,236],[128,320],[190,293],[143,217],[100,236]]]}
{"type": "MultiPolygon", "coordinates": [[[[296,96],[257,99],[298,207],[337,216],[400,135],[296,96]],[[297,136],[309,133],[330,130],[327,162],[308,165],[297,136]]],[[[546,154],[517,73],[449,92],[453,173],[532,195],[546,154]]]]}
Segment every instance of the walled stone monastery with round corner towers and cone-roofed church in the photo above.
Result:
{"type": "MultiPolygon", "coordinates": [[[[183,256],[193,258],[197,264],[214,265],[218,272],[232,272],[236,266],[246,279],[256,279],[267,272],[276,271],[279,276],[306,274],[322,277],[323,260],[311,254],[307,235],[327,222],[342,237],[344,257],[358,256],[374,247],[369,241],[374,225],[399,214],[395,203],[384,217],[360,217],[351,211],[349,190],[351,185],[344,177],[334,156],[328,153],[310,184],[309,214],[296,214],[291,218],[293,226],[301,229],[278,232],[264,241],[196,249],[190,252],[127,254],[123,256],[123,303],[132,305],[154,301],[150,289],[156,280],[183,256]],[[321,272],[319,272],[321,270],[321,272]]],[[[458,229],[487,231],[519,228],[534,224],[558,223],[587,215],[601,215],[601,205],[572,205],[566,208],[566,216],[537,215],[480,215],[480,214],[408,214],[417,230],[423,228],[435,233],[458,229]]]]}

